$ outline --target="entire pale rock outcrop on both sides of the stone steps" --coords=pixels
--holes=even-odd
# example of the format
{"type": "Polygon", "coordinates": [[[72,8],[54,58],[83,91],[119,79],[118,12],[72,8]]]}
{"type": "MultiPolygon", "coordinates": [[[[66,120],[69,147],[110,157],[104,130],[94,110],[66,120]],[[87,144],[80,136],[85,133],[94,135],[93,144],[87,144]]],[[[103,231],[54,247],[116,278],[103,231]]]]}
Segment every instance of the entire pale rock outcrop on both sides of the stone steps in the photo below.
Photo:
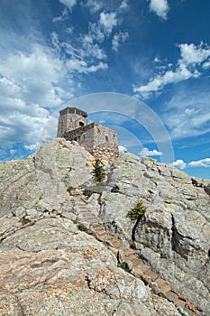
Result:
{"type": "MultiPolygon", "coordinates": [[[[68,191],[96,187],[89,158],[77,143],[58,138],[25,161],[0,164],[0,315],[185,315],[117,267],[109,247],[78,230],[68,191]]],[[[142,200],[147,211],[134,232],[137,253],[202,315],[210,310],[209,185],[127,153],[100,194],[86,201],[107,231],[129,245],[134,221],[127,214],[142,200]]]]}

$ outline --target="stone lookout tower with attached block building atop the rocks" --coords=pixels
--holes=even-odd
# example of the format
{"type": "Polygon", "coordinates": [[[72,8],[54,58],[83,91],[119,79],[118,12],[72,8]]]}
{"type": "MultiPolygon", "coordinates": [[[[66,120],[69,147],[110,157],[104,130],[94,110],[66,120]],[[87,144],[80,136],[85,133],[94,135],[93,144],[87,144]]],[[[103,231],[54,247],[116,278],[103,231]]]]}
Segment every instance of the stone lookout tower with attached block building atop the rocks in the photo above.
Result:
{"type": "Polygon", "coordinates": [[[116,132],[96,123],[87,124],[87,112],[77,107],[66,107],[59,111],[57,136],[77,141],[102,162],[114,163],[119,154],[116,132]]]}

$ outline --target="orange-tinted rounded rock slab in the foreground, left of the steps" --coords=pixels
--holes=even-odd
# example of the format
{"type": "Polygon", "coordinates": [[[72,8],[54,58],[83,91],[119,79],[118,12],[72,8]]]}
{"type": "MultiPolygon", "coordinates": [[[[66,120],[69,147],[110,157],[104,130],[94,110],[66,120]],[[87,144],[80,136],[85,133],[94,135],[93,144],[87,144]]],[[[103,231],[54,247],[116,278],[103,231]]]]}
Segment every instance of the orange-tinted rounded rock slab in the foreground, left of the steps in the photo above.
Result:
{"type": "Polygon", "coordinates": [[[1,315],[151,315],[144,284],[67,218],[43,218],[1,243],[1,315]]]}

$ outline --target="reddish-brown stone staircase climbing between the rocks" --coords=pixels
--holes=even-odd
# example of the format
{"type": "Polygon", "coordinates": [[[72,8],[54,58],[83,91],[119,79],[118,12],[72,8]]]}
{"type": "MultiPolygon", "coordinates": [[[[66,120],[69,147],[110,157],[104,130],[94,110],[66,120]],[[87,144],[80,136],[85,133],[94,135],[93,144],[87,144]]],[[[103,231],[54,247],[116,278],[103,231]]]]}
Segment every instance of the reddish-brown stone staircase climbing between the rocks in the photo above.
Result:
{"type": "Polygon", "coordinates": [[[88,228],[89,232],[95,235],[96,239],[109,246],[120,264],[126,264],[131,274],[142,279],[146,285],[150,285],[151,290],[164,297],[169,302],[176,305],[183,315],[201,316],[202,312],[196,309],[192,303],[174,292],[168,281],[164,280],[160,274],[151,270],[150,265],[145,265],[142,259],[130,246],[124,246],[117,237],[109,235],[100,218],[96,217],[88,208],[86,200],[80,195],[74,196],[78,223],[88,228]]]}

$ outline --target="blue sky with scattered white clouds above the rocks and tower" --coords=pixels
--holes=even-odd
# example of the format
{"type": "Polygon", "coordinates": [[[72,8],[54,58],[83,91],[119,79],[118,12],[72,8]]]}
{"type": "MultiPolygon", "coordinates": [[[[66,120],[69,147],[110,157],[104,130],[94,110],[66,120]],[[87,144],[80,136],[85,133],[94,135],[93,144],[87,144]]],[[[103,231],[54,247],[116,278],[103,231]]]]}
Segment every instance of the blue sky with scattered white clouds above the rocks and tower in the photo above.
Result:
{"type": "Polygon", "coordinates": [[[0,0],[0,7],[1,162],[54,137],[67,102],[109,92],[139,100],[130,120],[131,106],[120,104],[110,116],[101,111],[111,106],[98,103],[89,116],[117,129],[122,150],[164,162],[167,146],[142,127],[146,106],[166,130],[171,163],[210,178],[209,0],[0,0]]]}

